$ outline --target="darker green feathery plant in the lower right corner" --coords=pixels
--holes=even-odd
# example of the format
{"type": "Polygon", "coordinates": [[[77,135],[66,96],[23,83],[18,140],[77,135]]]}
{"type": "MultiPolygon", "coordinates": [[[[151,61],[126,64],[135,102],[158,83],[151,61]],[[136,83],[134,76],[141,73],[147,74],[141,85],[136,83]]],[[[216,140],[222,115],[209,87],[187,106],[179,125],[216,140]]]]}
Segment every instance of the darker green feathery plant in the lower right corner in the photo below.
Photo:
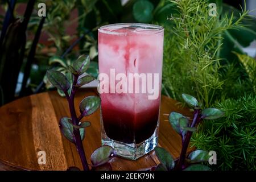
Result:
{"type": "Polygon", "coordinates": [[[216,170],[256,170],[256,96],[245,94],[214,105],[225,117],[199,125],[192,146],[217,153],[216,170]]]}

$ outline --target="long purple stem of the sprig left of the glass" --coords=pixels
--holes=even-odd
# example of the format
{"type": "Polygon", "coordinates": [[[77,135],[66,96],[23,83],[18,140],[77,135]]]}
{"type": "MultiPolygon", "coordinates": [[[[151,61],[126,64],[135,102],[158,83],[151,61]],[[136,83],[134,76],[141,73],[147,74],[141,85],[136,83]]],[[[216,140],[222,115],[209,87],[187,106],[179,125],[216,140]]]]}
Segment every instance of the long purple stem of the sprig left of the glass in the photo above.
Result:
{"type": "MultiPolygon", "coordinates": [[[[78,77],[79,76],[77,76],[77,75],[74,76],[74,82],[73,82],[71,94],[70,94],[70,97],[67,97],[67,98],[69,98],[68,105],[69,105],[69,111],[71,114],[71,119],[72,119],[73,125],[79,125],[79,120],[77,119],[75,105],[74,105],[74,98],[75,98],[75,93],[77,90],[76,86],[74,86],[74,85],[77,84],[78,77]]],[[[76,144],[76,148],[77,148],[77,151],[79,152],[79,156],[80,156],[80,159],[82,162],[82,168],[84,168],[84,171],[89,171],[89,166],[88,166],[88,163],[86,160],[84,147],[82,146],[82,139],[81,139],[79,129],[74,128],[73,134],[75,135],[75,144],[76,144]]]]}

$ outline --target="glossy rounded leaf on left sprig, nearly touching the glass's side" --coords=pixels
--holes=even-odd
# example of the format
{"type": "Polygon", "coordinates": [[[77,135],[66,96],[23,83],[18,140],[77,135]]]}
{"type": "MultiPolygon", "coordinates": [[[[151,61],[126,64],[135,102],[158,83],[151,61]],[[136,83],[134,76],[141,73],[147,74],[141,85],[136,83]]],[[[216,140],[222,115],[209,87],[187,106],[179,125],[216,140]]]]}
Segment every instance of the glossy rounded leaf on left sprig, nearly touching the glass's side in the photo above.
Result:
{"type": "Polygon", "coordinates": [[[100,97],[97,96],[88,96],[85,97],[84,100],[80,102],[80,113],[83,116],[90,115],[94,113],[98,107],[100,106],[100,97]]]}

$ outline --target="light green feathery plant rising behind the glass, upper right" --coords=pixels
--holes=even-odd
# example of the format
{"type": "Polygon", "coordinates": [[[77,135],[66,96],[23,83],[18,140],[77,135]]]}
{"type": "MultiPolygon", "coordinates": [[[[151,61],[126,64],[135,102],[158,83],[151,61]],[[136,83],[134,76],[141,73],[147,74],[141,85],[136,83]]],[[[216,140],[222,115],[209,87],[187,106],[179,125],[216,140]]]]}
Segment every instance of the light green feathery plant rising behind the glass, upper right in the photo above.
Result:
{"type": "MultiPolygon", "coordinates": [[[[197,96],[205,107],[209,107],[222,97],[237,97],[238,92],[248,90],[249,80],[241,65],[233,63],[233,60],[222,59],[225,58],[222,52],[232,53],[233,50],[230,49],[233,46],[225,49],[224,45],[229,40],[224,35],[232,34],[237,29],[247,31],[249,26],[243,28],[243,21],[248,11],[242,10],[240,15],[227,13],[220,10],[220,4],[217,6],[217,10],[220,10],[217,16],[210,17],[207,0],[171,2],[179,14],[175,13],[170,18],[174,27],[167,28],[165,34],[164,93],[176,100],[181,100],[181,93],[189,93],[197,96]],[[230,92],[228,86],[233,85],[240,88],[234,90],[237,93],[230,92]]],[[[233,41],[238,39],[237,36],[232,37],[233,41]]],[[[253,39],[254,36],[247,43],[253,39]]]]}

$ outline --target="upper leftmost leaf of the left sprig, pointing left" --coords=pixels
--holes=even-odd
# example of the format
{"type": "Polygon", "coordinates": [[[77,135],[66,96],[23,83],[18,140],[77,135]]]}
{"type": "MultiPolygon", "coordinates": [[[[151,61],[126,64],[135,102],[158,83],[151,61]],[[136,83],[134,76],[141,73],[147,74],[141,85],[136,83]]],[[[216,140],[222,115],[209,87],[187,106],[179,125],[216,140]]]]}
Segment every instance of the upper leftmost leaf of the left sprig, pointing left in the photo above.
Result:
{"type": "Polygon", "coordinates": [[[70,83],[68,81],[68,78],[65,77],[63,73],[55,70],[48,70],[46,73],[46,76],[49,82],[51,82],[51,84],[55,86],[57,89],[67,92],[68,89],[70,88],[70,83]]]}

